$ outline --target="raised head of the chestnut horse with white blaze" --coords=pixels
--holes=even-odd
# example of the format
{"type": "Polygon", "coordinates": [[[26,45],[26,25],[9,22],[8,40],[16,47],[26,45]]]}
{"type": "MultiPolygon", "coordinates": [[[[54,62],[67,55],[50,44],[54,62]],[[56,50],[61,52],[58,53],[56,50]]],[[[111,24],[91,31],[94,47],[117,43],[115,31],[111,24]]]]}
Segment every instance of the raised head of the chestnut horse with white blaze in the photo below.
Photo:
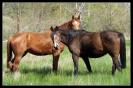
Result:
{"type": "Polygon", "coordinates": [[[78,16],[73,15],[71,22],[72,22],[71,24],[73,29],[76,29],[76,30],[80,29],[80,15],[78,16]]]}

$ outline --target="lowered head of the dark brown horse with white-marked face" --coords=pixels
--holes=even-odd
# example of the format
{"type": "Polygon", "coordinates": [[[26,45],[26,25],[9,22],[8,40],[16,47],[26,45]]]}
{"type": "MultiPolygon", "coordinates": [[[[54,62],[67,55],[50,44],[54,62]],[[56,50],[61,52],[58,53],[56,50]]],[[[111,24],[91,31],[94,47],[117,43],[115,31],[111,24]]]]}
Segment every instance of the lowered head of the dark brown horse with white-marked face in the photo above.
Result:
{"type": "Polygon", "coordinates": [[[51,35],[51,38],[52,38],[52,41],[54,43],[54,48],[55,49],[59,49],[60,47],[60,44],[61,44],[61,36],[60,36],[60,29],[56,26],[55,28],[53,28],[51,26],[51,31],[52,31],[52,35],[51,35]]]}

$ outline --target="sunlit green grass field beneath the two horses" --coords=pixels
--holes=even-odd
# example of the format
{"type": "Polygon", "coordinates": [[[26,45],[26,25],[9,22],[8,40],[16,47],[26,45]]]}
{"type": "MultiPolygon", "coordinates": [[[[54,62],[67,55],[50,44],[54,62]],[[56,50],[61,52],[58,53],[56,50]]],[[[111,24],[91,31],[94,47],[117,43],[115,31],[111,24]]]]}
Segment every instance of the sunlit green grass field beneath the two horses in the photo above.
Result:
{"type": "Polygon", "coordinates": [[[127,68],[122,72],[116,70],[111,75],[112,59],[109,55],[90,58],[93,73],[88,73],[82,59],[79,59],[79,74],[73,76],[73,61],[67,47],[61,53],[57,74],[52,72],[52,56],[35,56],[27,54],[20,62],[18,78],[6,72],[6,43],[3,43],[3,85],[131,85],[130,41],[126,41],[127,68]]]}

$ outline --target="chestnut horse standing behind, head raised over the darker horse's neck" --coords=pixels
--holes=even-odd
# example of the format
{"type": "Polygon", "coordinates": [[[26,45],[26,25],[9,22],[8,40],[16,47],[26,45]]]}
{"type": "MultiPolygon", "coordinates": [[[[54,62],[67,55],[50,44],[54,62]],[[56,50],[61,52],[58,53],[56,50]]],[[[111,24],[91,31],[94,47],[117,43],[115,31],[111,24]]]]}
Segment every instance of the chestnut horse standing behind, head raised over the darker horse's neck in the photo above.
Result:
{"type": "MultiPolygon", "coordinates": [[[[79,29],[80,15],[72,16],[72,20],[59,26],[62,30],[70,28],[79,29]]],[[[64,49],[64,44],[61,44],[60,49],[53,48],[51,39],[51,30],[45,32],[21,32],[11,36],[7,42],[7,68],[11,71],[18,71],[19,63],[23,56],[27,53],[34,55],[53,55],[53,71],[58,69],[58,60],[60,53],[64,49]],[[14,58],[12,58],[12,52],[14,58]]]]}

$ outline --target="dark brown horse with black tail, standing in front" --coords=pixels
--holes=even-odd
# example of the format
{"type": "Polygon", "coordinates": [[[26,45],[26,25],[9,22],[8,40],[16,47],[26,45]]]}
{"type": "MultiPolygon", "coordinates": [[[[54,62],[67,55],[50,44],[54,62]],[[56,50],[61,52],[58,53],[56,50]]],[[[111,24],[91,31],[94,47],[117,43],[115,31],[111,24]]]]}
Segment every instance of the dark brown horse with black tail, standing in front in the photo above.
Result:
{"type": "Polygon", "coordinates": [[[54,48],[65,44],[72,54],[74,63],[74,76],[78,75],[78,60],[81,57],[90,73],[92,73],[90,58],[102,57],[109,54],[112,57],[112,75],[116,68],[122,71],[126,68],[126,48],[124,35],[117,31],[104,30],[101,32],[88,32],[79,30],[60,30],[59,27],[51,27],[54,48]],[[57,46],[58,45],[58,46],[57,46]],[[119,59],[120,55],[120,59],[119,59]]]}

